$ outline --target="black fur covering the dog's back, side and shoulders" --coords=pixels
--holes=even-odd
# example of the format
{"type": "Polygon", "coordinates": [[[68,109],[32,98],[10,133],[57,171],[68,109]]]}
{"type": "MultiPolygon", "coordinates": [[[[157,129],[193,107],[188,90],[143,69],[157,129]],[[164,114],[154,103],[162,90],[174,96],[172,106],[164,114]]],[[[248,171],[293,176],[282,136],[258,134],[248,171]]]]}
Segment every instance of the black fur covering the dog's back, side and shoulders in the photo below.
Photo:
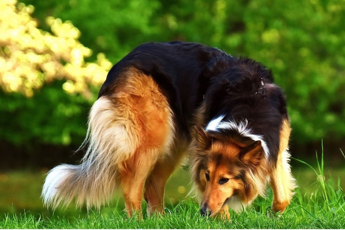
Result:
{"type": "Polygon", "coordinates": [[[194,114],[205,101],[205,126],[220,115],[225,115],[224,121],[247,119],[253,134],[264,136],[270,156],[276,159],[282,121],[288,115],[284,93],[263,64],[198,43],[144,43],[111,68],[98,97],[111,94],[115,79],[128,67],[157,82],[181,135],[190,138],[194,114]]]}

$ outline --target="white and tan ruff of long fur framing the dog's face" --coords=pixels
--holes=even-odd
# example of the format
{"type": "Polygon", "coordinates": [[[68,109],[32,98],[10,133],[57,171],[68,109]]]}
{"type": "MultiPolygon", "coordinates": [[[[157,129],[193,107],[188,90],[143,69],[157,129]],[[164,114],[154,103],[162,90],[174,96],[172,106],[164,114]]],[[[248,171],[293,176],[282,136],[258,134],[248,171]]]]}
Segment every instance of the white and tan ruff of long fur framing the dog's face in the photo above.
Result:
{"type": "MultiPolygon", "coordinates": [[[[246,139],[250,139],[252,141],[261,141],[263,152],[264,152],[264,158],[261,160],[260,164],[256,166],[255,168],[246,168],[244,170],[244,181],[246,183],[246,187],[249,189],[251,196],[246,198],[245,203],[241,203],[236,198],[231,198],[228,200],[228,205],[230,208],[234,209],[235,211],[240,211],[246,206],[250,205],[252,201],[257,197],[257,195],[260,195],[261,197],[266,197],[267,192],[267,182],[269,180],[269,171],[267,168],[267,164],[269,161],[269,151],[266,145],[266,142],[264,141],[263,137],[260,135],[255,135],[252,133],[251,129],[248,128],[248,121],[241,121],[241,122],[234,122],[234,121],[221,121],[220,118],[223,118],[224,116],[217,117],[209,122],[209,124],[206,126],[206,132],[205,134],[211,134],[210,132],[216,133],[216,135],[219,136],[225,136],[225,133],[222,133],[224,130],[226,131],[236,131],[236,135],[239,137],[243,137],[246,139]],[[216,121],[216,123],[213,123],[213,121],[216,121]],[[215,131],[215,132],[214,132],[215,131]]],[[[217,138],[217,137],[216,137],[217,138]]],[[[188,193],[194,194],[194,197],[198,198],[198,200],[203,197],[203,190],[204,188],[200,186],[200,180],[199,180],[199,174],[200,174],[200,165],[201,162],[210,160],[210,154],[208,151],[205,151],[205,146],[203,146],[204,140],[195,139],[194,142],[192,142],[190,146],[191,150],[191,167],[190,167],[190,174],[192,177],[192,189],[188,193]],[[200,144],[201,143],[201,144],[200,144]]],[[[287,152],[285,152],[287,153],[287,152]]],[[[283,156],[284,160],[289,158],[289,155],[284,154],[283,156]]],[[[288,167],[289,164],[287,162],[283,163],[283,167],[288,167]]],[[[233,165],[232,167],[238,168],[238,166],[233,165]]],[[[287,190],[290,188],[287,188],[287,190]]],[[[293,188],[291,188],[293,189],[293,188]]],[[[290,191],[290,190],[289,190],[290,191]]]]}

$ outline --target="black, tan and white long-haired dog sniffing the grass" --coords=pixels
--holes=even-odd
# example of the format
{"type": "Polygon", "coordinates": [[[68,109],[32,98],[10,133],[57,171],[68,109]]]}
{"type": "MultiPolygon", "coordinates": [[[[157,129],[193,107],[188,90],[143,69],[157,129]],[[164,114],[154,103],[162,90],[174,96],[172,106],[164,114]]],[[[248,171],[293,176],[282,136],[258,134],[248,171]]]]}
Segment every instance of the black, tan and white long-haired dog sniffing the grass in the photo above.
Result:
{"type": "Polygon", "coordinates": [[[272,210],[284,212],[295,179],[282,89],[263,64],[199,43],[144,43],[115,64],[88,121],[81,164],[49,171],[48,207],[99,208],[115,188],[132,217],[164,213],[165,184],[187,156],[201,214],[241,211],[267,184],[272,210]]]}

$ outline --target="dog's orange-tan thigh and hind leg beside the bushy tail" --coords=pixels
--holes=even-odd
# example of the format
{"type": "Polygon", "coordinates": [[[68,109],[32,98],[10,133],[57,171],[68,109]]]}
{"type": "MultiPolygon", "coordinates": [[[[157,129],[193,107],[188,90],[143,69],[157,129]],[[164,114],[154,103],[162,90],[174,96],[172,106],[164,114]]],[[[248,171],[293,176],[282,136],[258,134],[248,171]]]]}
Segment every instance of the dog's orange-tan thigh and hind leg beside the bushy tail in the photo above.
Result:
{"type": "Polygon", "coordinates": [[[138,138],[133,155],[119,166],[126,210],[132,216],[132,211],[141,209],[145,181],[155,164],[169,158],[174,126],[169,104],[153,79],[136,69],[126,74],[126,82],[112,100],[121,107],[122,119],[131,123],[138,138]]]}

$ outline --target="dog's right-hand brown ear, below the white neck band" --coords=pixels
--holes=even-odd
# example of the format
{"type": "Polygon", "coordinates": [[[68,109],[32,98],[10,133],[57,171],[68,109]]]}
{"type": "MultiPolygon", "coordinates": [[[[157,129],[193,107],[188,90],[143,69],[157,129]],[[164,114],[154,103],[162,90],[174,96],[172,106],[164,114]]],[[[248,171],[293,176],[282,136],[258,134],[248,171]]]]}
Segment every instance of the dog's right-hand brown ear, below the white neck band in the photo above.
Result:
{"type": "Polygon", "coordinates": [[[261,146],[261,141],[254,141],[239,152],[240,161],[249,167],[258,166],[263,158],[264,152],[261,146]]]}

